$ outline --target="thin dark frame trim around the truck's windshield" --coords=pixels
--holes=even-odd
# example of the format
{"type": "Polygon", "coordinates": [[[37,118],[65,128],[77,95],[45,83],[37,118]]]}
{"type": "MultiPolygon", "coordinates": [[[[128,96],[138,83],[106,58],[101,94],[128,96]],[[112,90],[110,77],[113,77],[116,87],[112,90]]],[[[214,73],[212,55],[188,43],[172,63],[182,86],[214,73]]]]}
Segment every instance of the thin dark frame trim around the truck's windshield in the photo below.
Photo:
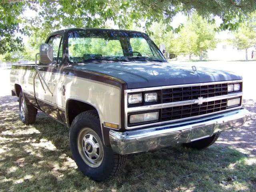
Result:
{"type": "Polygon", "coordinates": [[[146,40],[148,40],[150,43],[152,43],[153,46],[155,46],[155,48],[159,51],[159,53],[161,54],[161,56],[163,57],[162,62],[166,62],[168,63],[168,61],[166,60],[164,54],[160,51],[160,49],[158,48],[158,46],[156,46],[156,44],[154,43],[154,41],[152,39],[150,39],[150,37],[148,36],[148,34],[144,33],[144,32],[139,32],[139,31],[133,31],[133,30],[113,30],[113,29],[106,29],[106,28],[75,28],[74,30],[68,30],[66,31],[66,42],[65,42],[65,47],[66,47],[66,61],[70,64],[76,64],[76,63],[84,63],[86,61],[77,61],[77,62],[72,62],[69,60],[69,54],[68,54],[68,36],[71,32],[74,31],[113,31],[113,32],[127,32],[127,33],[140,33],[142,34],[142,36],[144,36],[146,38],[146,40]]]}

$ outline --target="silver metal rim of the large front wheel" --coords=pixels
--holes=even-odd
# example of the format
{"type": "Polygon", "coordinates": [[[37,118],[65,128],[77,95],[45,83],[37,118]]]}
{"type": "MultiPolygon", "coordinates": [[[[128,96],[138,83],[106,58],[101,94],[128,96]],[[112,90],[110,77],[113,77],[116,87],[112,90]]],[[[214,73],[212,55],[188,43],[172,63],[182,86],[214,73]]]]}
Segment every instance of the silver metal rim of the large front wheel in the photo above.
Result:
{"type": "Polygon", "coordinates": [[[90,167],[98,167],[103,160],[103,146],[100,138],[90,128],[82,128],[78,134],[77,147],[80,156],[90,167]]]}

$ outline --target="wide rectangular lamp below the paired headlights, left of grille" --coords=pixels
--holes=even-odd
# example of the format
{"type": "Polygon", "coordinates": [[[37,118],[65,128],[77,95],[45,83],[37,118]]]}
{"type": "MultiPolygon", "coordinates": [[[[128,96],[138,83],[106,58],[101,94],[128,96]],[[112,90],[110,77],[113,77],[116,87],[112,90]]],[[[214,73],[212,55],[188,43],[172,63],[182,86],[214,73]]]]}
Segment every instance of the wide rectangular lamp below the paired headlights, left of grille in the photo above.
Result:
{"type": "Polygon", "coordinates": [[[141,123],[158,120],[159,112],[150,112],[130,115],[130,123],[141,123]]]}

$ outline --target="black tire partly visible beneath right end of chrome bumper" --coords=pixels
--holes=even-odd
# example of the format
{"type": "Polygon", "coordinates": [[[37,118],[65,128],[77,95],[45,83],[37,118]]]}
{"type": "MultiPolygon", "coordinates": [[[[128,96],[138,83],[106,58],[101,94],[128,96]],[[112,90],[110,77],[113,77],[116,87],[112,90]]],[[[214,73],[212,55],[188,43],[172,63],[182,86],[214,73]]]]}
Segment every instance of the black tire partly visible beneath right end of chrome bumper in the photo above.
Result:
{"type": "Polygon", "coordinates": [[[216,142],[216,140],[219,138],[219,136],[220,136],[220,133],[215,134],[211,137],[204,138],[204,139],[200,139],[200,140],[193,141],[190,143],[185,143],[183,145],[186,147],[189,147],[189,148],[195,148],[195,149],[200,150],[200,149],[204,149],[204,148],[214,144],[216,142]]]}

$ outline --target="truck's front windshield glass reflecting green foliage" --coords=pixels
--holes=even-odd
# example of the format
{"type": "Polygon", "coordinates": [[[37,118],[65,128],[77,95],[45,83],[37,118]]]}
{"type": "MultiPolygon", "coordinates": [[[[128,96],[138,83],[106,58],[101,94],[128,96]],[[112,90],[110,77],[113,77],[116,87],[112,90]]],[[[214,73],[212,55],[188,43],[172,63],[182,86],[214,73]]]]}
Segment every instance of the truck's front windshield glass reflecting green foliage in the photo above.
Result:
{"type": "Polygon", "coordinates": [[[78,30],[68,34],[70,62],[146,60],[166,62],[146,34],[114,30],[78,30]]]}

